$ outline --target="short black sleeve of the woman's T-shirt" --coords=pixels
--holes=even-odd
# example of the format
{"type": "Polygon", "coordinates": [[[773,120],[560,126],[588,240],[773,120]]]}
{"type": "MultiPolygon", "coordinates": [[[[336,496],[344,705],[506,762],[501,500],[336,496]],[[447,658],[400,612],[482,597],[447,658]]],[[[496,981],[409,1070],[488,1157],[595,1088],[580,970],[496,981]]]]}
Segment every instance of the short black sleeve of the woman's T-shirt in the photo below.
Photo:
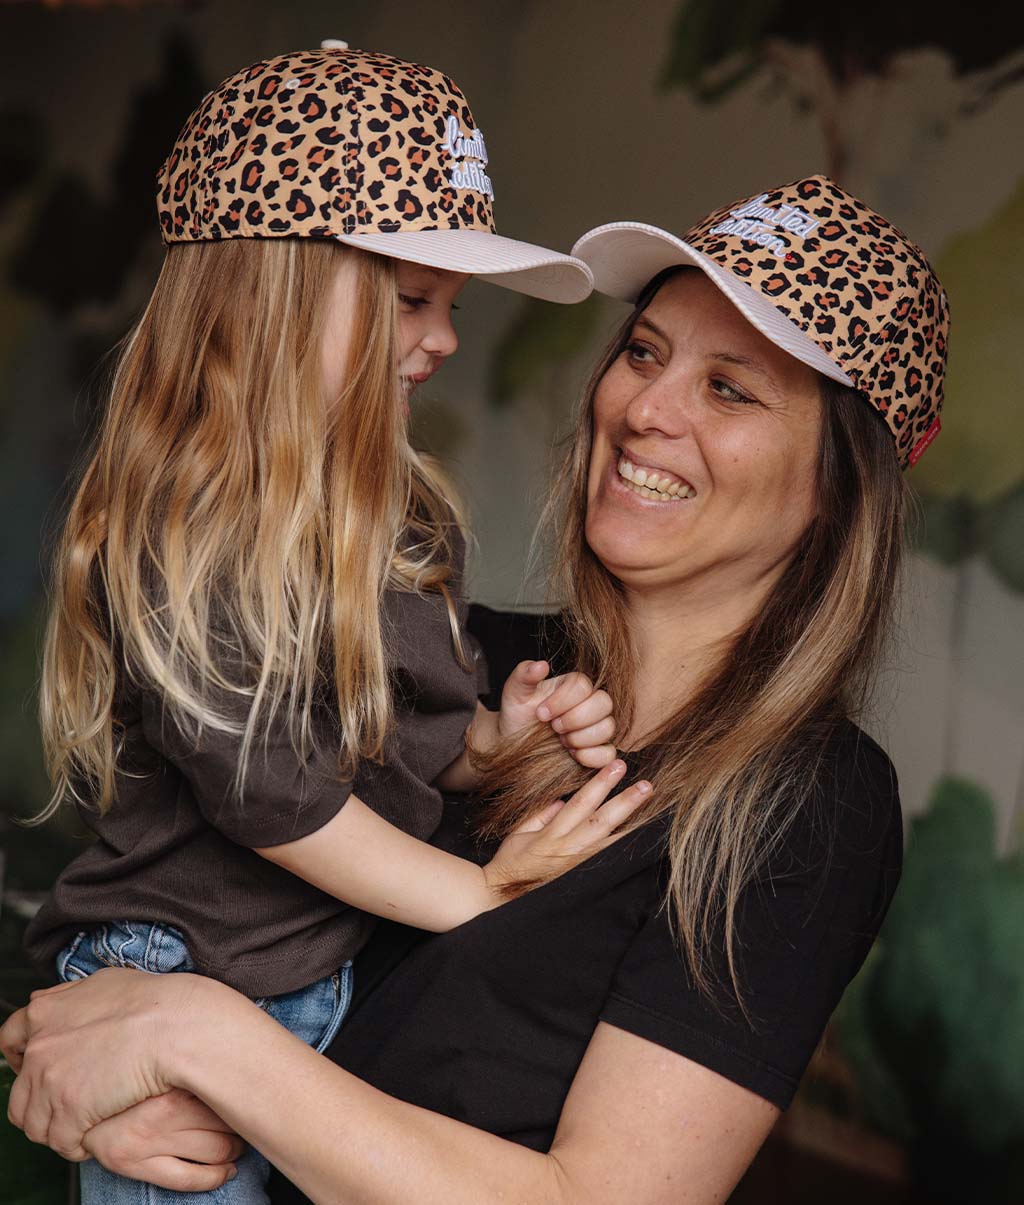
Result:
{"type": "Polygon", "coordinates": [[[866,736],[843,740],[784,847],[737,901],[743,1007],[722,933],[699,991],[655,910],[616,972],[601,1019],[785,1109],[895,892],[902,823],[895,772],[866,736]],[[745,1011],[746,1010],[746,1011],[745,1011]]]}

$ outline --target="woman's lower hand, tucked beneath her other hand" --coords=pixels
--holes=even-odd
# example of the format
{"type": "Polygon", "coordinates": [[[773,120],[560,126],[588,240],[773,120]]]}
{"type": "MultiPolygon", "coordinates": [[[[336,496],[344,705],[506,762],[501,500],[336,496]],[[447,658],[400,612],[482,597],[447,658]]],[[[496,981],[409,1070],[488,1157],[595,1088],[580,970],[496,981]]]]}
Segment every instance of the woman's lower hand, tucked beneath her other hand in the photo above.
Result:
{"type": "Polygon", "coordinates": [[[100,1122],[83,1145],[108,1171],[180,1193],[233,1180],[234,1160],[246,1150],[212,1109],[181,1088],[100,1122]]]}

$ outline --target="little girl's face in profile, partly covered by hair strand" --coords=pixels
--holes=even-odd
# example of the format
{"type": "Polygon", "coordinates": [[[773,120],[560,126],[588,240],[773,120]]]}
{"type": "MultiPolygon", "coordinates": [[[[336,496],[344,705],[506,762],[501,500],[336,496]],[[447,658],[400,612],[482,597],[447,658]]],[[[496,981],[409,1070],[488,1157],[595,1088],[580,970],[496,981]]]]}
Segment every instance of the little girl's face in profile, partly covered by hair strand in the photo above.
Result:
{"type": "MultiPolygon", "coordinates": [[[[459,346],[452,311],[467,280],[464,272],[424,268],[404,259],[395,264],[399,376],[406,404],[413,389],[431,377],[459,346]]],[[[337,266],[326,315],[323,369],[328,398],[337,398],[345,381],[354,288],[354,257],[345,255],[337,266]]]]}

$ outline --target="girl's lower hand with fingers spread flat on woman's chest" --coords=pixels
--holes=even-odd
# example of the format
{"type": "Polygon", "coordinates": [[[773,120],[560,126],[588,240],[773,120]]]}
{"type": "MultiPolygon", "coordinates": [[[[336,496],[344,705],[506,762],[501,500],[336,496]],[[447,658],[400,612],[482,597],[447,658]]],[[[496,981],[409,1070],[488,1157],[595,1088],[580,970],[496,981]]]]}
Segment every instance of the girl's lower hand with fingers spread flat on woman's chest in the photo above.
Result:
{"type": "Polygon", "coordinates": [[[647,803],[653,789],[647,781],[635,782],[608,799],[608,792],[624,774],[625,763],[616,759],[566,803],[558,800],[524,821],[483,868],[490,890],[504,901],[571,870],[618,841],[624,834],[617,829],[647,803]]]}

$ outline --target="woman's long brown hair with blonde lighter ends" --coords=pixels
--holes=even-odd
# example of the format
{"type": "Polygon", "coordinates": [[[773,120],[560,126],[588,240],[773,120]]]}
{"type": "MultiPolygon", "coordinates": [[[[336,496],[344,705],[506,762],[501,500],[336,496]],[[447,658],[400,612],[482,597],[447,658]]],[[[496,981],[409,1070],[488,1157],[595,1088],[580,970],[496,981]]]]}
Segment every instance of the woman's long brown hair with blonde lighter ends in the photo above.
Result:
{"type": "MultiPolygon", "coordinates": [[[[632,721],[636,657],[620,583],[587,545],[587,471],[594,393],[641,308],[590,381],[542,521],[554,533],[566,662],[610,692],[619,737],[632,721]]],[[[712,988],[710,954],[724,924],[741,1003],[740,895],[812,794],[830,736],[867,700],[902,557],[906,487],[891,436],[852,389],[824,377],[819,383],[825,421],[817,517],[759,613],[640,751],[641,772],[655,790],[634,827],[669,813],[666,906],[689,970],[701,989],[712,988]]],[[[488,839],[504,836],[524,813],[587,777],[545,730],[477,762],[489,798],[478,828],[488,839]]]]}

